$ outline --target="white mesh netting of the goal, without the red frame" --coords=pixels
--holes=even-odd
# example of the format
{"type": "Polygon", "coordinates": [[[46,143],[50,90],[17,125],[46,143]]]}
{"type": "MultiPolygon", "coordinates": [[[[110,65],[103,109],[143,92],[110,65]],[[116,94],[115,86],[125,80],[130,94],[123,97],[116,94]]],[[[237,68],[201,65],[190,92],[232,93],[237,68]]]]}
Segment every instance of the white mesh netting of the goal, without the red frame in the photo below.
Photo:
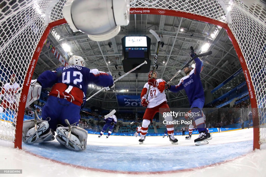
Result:
{"type": "MultiPolygon", "coordinates": [[[[265,108],[265,3],[262,0],[245,0],[243,2],[231,0],[132,0],[130,4],[131,8],[157,8],[188,12],[228,24],[250,72],[257,106],[265,108]]],[[[0,3],[1,90],[6,83],[10,82],[10,74],[15,74],[16,82],[20,87],[23,86],[28,65],[47,23],[63,18],[64,3],[65,1],[55,0],[2,1],[0,3]]],[[[15,106],[10,108],[10,115],[14,117],[19,103],[12,104],[15,106]]],[[[265,112],[259,111],[259,115],[260,124],[265,124],[265,112]]],[[[0,125],[6,126],[6,123],[13,122],[11,119],[12,116],[11,118],[2,118],[0,125]]],[[[7,125],[6,127],[12,128],[11,126],[7,125]]],[[[265,143],[266,131],[264,129],[260,129],[261,143],[265,143]]],[[[6,129],[4,130],[6,131],[6,129]]],[[[5,135],[3,130],[0,130],[0,134],[5,135]]],[[[14,132],[11,135],[14,136],[14,132]]],[[[1,136],[1,139],[6,138],[1,136]]],[[[9,140],[13,141],[14,139],[9,140]]]]}

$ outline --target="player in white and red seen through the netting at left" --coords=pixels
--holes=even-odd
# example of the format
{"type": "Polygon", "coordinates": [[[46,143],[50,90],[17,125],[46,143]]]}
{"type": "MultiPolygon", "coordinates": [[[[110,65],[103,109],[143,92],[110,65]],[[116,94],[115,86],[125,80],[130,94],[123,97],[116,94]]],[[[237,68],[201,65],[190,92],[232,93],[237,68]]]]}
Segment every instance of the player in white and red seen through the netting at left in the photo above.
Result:
{"type": "MultiPolygon", "coordinates": [[[[4,112],[6,109],[16,112],[16,95],[19,90],[19,84],[16,83],[16,75],[12,74],[9,76],[10,83],[6,83],[1,91],[1,99],[4,97],[3,102],[0,105],[0,113],[4,112]]],[[[13,126],[16,124],[16,113],[13,119],[13,126]]]]}

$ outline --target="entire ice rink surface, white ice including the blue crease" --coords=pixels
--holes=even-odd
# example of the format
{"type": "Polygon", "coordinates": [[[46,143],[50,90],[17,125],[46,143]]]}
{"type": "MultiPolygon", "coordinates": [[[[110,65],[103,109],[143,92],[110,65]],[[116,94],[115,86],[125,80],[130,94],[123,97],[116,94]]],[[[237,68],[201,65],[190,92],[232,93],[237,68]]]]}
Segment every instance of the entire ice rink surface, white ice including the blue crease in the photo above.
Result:
{"type": "Polygon", "coordinates": [[[194,145],[197,136],[176,136],[178,145],[147,136],[140,145],[135,136],[89,134],[85,152],[56,140],[22,144],[22,150],[1,141],[1,169],[22,169],[20,176],[265,176],[266,150],[252,151],[252,128],[213,133],[201,146],[194,145]]]}

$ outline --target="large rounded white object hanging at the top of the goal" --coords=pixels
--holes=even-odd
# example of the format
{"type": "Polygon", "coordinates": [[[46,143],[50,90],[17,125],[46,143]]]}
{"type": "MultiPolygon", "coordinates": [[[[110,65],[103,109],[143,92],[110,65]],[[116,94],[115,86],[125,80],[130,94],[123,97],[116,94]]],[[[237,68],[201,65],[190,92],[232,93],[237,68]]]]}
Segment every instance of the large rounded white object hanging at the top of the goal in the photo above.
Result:
{"type": "Polygon", "coordinates": [[[88,34],[93,41],[115,37],[129,22],[130,0],[68,0],[63,15],[70,28],[88,34]]]}

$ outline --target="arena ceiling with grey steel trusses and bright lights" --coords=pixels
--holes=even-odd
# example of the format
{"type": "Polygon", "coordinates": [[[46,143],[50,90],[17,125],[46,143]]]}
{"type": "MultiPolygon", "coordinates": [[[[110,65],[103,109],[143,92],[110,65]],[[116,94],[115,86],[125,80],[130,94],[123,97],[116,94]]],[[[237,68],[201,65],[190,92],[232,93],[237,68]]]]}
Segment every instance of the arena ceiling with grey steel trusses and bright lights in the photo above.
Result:
{"type": "MultiPolygon", "coordinates": [[[[130,23],[127,26],[122,26],[117,36],[102,42],[92,41],[81,32],[74,33],[68,24],[64,24],[53,29],[59,35],[59,40],[52,33],[49,34],[48,40],[62,54],[64,53],[62,44],[68,44],[73,55],[79,55],[85,59],[86,67],[97,68],[105,72],[111,71],[112,75],[116,75],[118,78],[119,72],[122,75],[124,74],[121,42],[124,36],[150,37],[153,61],[157,49],[157,40],[149,32],[149,29],[153,29],[159,34],[161,41],[164,42],[164,46],[159,48],[158,69],[156,70],[159,73],[158,78],[168,81],[191,59],[189,55],[190,46],[193,46],[196,53],[201,53],[202,46],[207,42],[210,44],[208,50],[212,51],[212,55],[201,58],[204,65],[201,72],[201,81],[205,91],[215,88],[241,67],[234,47],[223,28],[174,16],[131,14],[130,23]],[[111,47],[108,43],[111,44],[111,47]],[[116,64],[118,69],[115,68],[116,64]]],[[[44,46],[35,68],[35,74],[38,76],[45,70],[52,71],[60,66],[62,64],[44,46]]],[[[172,80],[171,84],[177,84],[183,76],[185,75],[182,72],[172,80]]],[[[115,89],[101,92],[90,99],[87,106],[118,109],[116,95],[140,95],[147,79],[148,73],[139,73],[138,78],[136,78],[135,73],[129,74],[116,82],[115,89]],[[128,92],[119,90],[128,90],[128,92]]],[[[89,88],[87,98],[97,91],[97,88],[89,88]]],[[[170,107],[189,106],[184,90],[178,93],[166,92],[166,95],[170,107]]],[[[132,109],[136,110],[136,108],[132,109]]],[[[141,109],[138,108],[138,110],[141,109]]]]}

